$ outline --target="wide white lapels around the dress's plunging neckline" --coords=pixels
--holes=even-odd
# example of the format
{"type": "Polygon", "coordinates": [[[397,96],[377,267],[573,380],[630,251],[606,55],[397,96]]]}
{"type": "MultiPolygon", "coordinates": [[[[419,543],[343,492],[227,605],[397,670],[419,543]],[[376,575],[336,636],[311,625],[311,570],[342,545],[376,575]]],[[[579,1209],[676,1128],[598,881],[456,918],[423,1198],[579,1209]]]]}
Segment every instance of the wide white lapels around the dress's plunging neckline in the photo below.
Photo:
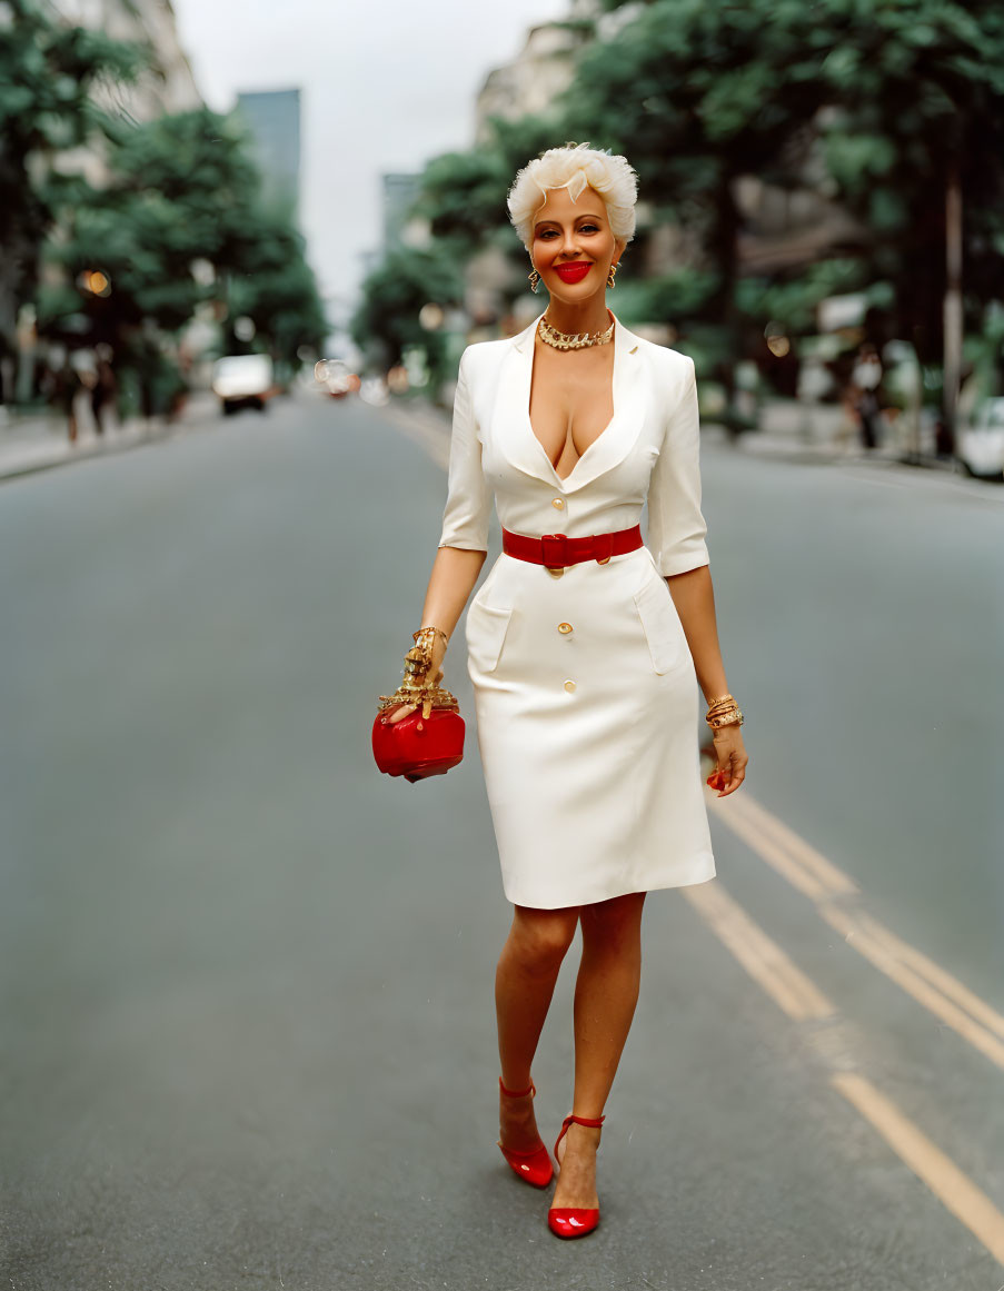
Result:
{"type": "Polygon", "coordinates": [[[533,342],[541,314],[515,336],[502,360],[492,434],[506,460],[561,493],[574,493],[623,461],[634,447],[644,418],[641,350],[639,337],[614,315],[613,418],[599,439],[579,457],[565,479],[551,465],[530,425],[533,342]]]}

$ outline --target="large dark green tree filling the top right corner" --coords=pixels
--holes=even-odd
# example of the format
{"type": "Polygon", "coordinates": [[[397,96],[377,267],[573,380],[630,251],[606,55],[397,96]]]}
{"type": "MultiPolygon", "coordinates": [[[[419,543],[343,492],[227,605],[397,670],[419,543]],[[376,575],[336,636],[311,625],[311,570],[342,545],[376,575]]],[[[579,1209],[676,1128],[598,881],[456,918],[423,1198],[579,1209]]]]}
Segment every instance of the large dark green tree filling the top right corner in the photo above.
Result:
{"type": "Polygon", "coordinates": [[[1004,296],[996,0],[653,0],[634,9],[586,50],[564,106],[631,158],[647,196],[697,214],[719,275],[707,306],[736,352],[734,181],[804,185],[788,145],[807,127],[821,139],[827,195],[870,229],[867,245],[853,248],[865,278],[893,284],[894,325],[928,361],[942,354],[946,195],[956,192],[968,318],[979,325],[985,303],[1004,296]]]}

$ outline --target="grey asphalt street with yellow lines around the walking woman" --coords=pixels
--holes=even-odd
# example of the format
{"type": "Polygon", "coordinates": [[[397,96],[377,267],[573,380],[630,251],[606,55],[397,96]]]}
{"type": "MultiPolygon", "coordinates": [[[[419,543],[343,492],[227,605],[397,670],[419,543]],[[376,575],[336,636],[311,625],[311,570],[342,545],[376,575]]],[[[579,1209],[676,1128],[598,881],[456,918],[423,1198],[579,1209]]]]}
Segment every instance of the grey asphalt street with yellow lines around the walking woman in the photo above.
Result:
{"type": "Polygon", "coordinates": [[[370,751],[443,463],[434,418],[299,395],[0,484],[4,1288],[999,1291],[1004,489],[707,436],[750,768],[718,878],[648,897],[564,1243],[496,1146],[463,621],[463,763],[370,751]]]}

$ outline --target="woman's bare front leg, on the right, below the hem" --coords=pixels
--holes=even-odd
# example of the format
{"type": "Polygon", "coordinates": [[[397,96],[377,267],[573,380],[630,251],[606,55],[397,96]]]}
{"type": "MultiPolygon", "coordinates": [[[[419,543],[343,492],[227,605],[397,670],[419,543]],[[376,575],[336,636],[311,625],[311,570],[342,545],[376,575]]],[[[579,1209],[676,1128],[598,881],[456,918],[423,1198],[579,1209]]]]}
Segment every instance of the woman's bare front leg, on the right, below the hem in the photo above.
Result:
{"type": "MultiPolygon", "coordinates": [[[[572,1110],[599,1119],[617,1074],[641,981],[644,892],[583,905],[582,963],[576,979],[576,1092],[572,1110]]],[[[600,1130],[569,1126],[554,1206],[596,1207],[600,1130]]]]}

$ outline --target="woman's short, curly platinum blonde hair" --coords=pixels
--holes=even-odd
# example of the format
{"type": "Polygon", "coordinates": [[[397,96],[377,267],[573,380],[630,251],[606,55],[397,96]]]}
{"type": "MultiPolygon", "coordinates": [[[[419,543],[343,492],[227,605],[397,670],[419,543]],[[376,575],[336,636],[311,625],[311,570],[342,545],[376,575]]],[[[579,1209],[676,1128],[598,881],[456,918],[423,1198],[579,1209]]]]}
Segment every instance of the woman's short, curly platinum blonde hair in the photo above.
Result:
{"type": "Polygon", "coordinates": [[[614,238],[631,241],[635,236],[638,174],[627,158],[613,156],[609,148],[592,148],[588,143],[565,143],[529,161],[517,172],[508,190],[508,218],[527,250],[533,243],[533,217],[541,200],[547,200],[547,190],[568,188],[569,198],[577,201],[586,187],[595,188],[607,204],[607,218],[614,238]]]}

